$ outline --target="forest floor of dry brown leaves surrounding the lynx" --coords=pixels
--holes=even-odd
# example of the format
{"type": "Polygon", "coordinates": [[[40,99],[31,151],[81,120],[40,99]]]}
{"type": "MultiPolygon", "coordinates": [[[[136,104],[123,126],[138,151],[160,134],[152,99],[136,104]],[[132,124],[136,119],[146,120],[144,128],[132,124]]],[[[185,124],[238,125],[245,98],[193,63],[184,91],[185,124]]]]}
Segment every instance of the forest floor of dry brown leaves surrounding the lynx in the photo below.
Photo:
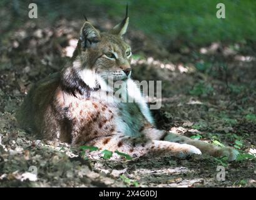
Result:
{"type": "MultiPolygon", "coordinates": [[[[104,28],[113,25],[90,19],[104,28]]],[[[253,44],[175,49],[130,29],[133,78],[162,81],[157,126],[240,151],[237,161],[139,158],[84,159],[68,144],[40,141],[20,129],[15,112],[31,84],[59,71],[76,45],[83,21],[24,24],[0,46],[0,186],[21,187],[253,187],[256,186],[256,58],[253,44]],[[253,156],[254,155],[254,156],[253,156]],[[217,166],[225,169],[218,181],[217,166]],[[34,173],[36,172],[36,173],[34,173]],[[37,175],[35,175],[37,174],[37,175]],[[223,176],[222,176],[223,178],[223,176]]]]}

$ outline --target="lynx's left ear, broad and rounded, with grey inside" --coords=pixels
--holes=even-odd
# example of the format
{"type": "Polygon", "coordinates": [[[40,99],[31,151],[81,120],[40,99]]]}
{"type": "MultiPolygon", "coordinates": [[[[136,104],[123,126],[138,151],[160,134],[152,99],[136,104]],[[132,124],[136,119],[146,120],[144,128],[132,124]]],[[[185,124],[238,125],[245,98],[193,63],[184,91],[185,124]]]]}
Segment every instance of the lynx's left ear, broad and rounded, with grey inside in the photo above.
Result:
{"type": "Polygon", "coordinates": [[[83,49],[93,47],[100,41],[100,32],[90,22],[86,21],[81,28],[79,40],[83,49]]]}

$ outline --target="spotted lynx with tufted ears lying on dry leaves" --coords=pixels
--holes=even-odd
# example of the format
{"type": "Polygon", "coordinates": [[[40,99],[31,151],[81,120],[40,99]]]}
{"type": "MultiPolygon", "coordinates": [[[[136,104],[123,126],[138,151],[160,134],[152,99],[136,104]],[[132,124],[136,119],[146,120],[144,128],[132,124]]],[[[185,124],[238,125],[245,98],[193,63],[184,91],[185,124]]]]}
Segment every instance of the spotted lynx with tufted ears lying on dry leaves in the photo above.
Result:
{"type": "Polygon", "coordinates": [[[73,58],[59,73],[35,84],[18,112],[23,128],[40,138],[71,145],[96,146],[138,156],[177,156],[207,153],[236,159],[237,151],[220,148],[155,128],[143,95],[131,76],[131,47],[123,35],[128,11],[120,24],[100,32],[87,20],[79,32],[73,58]],[[123,81],[126,96],[138,101],[123,103],[108,80],[123,81]]]}

